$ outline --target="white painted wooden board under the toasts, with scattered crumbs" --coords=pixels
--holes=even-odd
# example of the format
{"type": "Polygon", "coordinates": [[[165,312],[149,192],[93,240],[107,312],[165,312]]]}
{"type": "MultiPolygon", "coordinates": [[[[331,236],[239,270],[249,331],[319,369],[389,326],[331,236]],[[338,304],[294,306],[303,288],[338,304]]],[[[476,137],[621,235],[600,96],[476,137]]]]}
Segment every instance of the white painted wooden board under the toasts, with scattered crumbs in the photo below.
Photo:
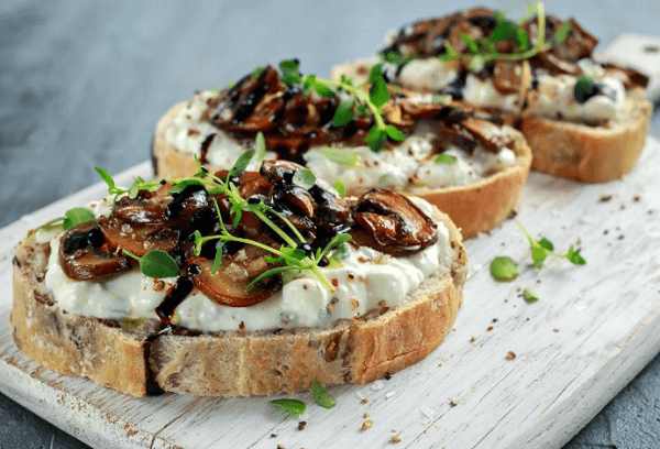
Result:
{"type": "MultiPolygon", "coordinates": [[[[150,166],[120,178],[136,175],[150,166]]],[[[513,220],[469,241],[465,303],[446,342],[389,381],[330,388],[332,409],[290,395],[308,404],[300,419],[283,419],[267,397],[139,399],[18,351],[8,325],[15,242],[103,194],[92,186],[0,231],[0,390],[95,448],[389,448],[393,435],[402,448],[559,448],[660,350],[660,142],[651,138],[624,180],[530,176],[517,218],[558,251],[579,243],[585,266],[549,260],[537,271],[513,220]],[[513,283],[488,274],[502,254],[521,269],[513,283]],[[522,300],[527,286],[538,303],[522,300]],[[365,413],[374,425],[363,431],[365,413]]]]}

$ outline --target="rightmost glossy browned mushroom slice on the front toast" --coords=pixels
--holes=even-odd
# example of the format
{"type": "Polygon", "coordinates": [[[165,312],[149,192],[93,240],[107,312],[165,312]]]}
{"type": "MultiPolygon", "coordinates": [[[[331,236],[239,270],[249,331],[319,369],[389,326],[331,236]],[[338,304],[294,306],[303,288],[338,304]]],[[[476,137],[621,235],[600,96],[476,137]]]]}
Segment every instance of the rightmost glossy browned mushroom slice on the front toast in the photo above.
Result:
{"type": "Polygon", "coordinates": [[[387,254],[413,254],[438,241],[436,223],[407,197],[391,190],[364,194],[353,218],[374,239],[375,249],[387,254]]]}

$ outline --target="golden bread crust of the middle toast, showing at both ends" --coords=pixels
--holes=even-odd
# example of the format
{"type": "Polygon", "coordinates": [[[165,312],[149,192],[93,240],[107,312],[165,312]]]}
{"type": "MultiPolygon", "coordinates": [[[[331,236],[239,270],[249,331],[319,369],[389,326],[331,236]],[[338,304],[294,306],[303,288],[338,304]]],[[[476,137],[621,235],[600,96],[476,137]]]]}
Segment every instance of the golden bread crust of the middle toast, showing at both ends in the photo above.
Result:
{"type": "MultiPolygon", "coordinates": [[[[197,163],[190,154],[178,151],[164,140],[165,130],[185,106],[186,102],[175,105],[156,125],[152,144],[152,160],[154,173],[158,178],[191,176],[198,171],[197,163]]],[[[461,229],[464,239],[490,231],[514,211],[520,200],[522,186],[531,166],[531,150],[525,138],[512,128],[509,128],[509,134],[514,138],[514,147],[510,150],[516,153],[516,165],[513,167],[464,186],[399,193],[424,198],[437,206],[449,215],[455,226],[461,229]]],[[[207,166],[210,171],[226,168],[207,166]]],[[[361,195],[362,193],[360,190],[349,191],[350,195],[361,195]]]]}

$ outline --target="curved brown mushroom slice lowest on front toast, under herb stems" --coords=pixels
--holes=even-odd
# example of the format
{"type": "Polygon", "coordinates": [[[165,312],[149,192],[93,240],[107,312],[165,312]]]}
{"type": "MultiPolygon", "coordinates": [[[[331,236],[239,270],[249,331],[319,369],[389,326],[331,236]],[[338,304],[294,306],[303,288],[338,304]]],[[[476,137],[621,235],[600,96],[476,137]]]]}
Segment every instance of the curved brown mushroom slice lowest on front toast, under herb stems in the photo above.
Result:
{"type": "Polygon", "coordinates": [[[190,264],[200,267],[193,282],[201,293],[216,304],[229,307],[249,307],[271,297],[282,288],[282,276],[274,275],[256,283],[248,292],[248,285],[271,267],[262,255],[256,255],[254,247],[239,251],[248,253],[245,259],[223,258],[216,274],[211,274],[213,261],[202,256],[191,256],[190,264]]]}

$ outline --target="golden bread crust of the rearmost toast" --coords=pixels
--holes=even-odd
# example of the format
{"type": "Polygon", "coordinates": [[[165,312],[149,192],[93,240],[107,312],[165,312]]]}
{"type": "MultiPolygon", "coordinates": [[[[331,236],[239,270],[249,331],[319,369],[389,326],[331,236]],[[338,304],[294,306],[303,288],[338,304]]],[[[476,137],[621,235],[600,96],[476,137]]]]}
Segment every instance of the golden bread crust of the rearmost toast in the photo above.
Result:
{"type": "Polygon", "coordinates": [[[531,146],[531,169],[585,183],[618,179],[644,150],[651,111],[644,89],[636,88],[626,117],[604,125],[524,117],[519,129],[531,146]]]}

